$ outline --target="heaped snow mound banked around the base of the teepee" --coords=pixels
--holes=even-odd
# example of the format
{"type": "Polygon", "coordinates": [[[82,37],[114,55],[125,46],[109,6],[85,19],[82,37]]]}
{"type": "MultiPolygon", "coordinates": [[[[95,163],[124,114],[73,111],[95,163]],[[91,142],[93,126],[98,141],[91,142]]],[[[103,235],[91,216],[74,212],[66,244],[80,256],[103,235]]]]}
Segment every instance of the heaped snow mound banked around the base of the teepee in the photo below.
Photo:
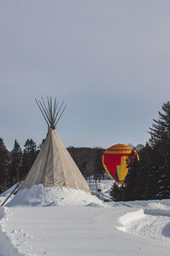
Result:
{"type": "Polygon", "coordinates": [[[87,194],[82,190],[67,189],[65,187],[44,187],[42,184],[34,185],[31,189],[20,189],[7,207],[31,206],[89,206],[105,207],[105,204],[96,196],[87,194]]]}

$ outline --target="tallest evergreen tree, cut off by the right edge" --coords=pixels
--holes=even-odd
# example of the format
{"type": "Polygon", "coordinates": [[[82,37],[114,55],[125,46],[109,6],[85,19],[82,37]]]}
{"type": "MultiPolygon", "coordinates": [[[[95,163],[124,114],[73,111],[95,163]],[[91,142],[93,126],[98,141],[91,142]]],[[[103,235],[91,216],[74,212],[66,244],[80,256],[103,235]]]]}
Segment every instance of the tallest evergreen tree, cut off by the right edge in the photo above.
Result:
{"type": "Polygon", "coordinates": [[[161,110],[158,112],[159,118],[153,119],[149,141],[152,148],[150,160],[153,165],[150,194],[156,199],[169,197],[170,102],[164,103],[161,110]]]}

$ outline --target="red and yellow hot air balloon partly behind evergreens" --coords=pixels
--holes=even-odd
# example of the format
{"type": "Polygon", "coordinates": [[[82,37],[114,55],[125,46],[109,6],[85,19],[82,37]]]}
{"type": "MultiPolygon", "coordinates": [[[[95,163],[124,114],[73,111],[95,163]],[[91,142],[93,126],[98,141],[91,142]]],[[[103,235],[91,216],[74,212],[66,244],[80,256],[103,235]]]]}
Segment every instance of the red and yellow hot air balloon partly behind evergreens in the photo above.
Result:
{"type": "MultiPolygon", "coordinates": [[[[124,144],[116,144],[111,148],[107,148],[103,154],[103,166],[105,171],[116,180],[117,184],[122,184],[127,176],[127,156],[134,149],[124,144]]],[[[134,150],[134,154],[139,159],[138,153],[134,150]]]]}

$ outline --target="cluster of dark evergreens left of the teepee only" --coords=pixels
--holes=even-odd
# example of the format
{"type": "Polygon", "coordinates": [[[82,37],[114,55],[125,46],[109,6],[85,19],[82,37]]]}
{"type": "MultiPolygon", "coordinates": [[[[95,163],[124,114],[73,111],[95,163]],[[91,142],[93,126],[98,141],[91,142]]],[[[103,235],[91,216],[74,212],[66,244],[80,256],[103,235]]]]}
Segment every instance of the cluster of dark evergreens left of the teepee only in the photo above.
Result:
{"type": "Polygon", "coordinates": [[[41,145],[37,147],[32,139],[27,139],[24,150],[22,150],[20,144],[15,140],[13,150],[8,152],[3,138],[0,138],[0,193],[26,176],[40,147],[41,145]]]}

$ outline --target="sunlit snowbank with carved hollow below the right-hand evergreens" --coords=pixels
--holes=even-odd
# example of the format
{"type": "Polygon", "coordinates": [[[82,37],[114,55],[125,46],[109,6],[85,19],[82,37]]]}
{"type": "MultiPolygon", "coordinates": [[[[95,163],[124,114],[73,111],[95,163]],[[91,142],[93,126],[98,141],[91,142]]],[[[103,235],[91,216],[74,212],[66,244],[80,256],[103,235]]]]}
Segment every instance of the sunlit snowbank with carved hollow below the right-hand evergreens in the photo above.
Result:
{"type": "Polygon", "coordinates": [[[167,205],[169,205],[167,200],[148,202],[143,209],[126,213],[118,218],[118,223],[121,226],[116,229],[135,236],[144,236],[170,243],[170,207],[167,205]]]}

